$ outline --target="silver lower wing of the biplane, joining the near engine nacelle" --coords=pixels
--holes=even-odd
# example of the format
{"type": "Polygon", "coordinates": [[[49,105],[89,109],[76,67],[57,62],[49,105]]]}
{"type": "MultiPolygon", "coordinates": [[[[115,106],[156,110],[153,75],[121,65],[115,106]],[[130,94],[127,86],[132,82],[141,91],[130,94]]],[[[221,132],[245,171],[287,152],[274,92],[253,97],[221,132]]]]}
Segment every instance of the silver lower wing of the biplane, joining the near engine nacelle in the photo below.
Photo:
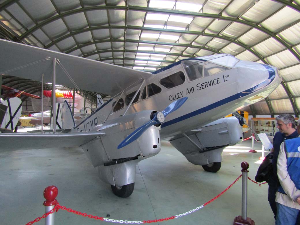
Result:
{"type": "Polygon", "coordinates": [[[103,132],[78,132],[56,134],[0,134],[1,150],[49,149],[81,146],[103,132]]]}

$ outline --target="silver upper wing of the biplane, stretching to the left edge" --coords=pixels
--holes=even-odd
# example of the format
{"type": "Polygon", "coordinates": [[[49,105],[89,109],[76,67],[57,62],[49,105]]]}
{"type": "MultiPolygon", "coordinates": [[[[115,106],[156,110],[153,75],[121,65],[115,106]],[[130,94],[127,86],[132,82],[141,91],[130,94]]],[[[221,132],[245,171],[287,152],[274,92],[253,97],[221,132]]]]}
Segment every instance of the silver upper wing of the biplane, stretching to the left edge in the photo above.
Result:
{"type": "MultiPolygon", "coordinates": [[[[112,97],[139,79],[152,75],[11,41],[0,40],[0,49],[0,73],[37,81],[41,81],[42,73],[44,73],[44,82],[52,82],[53,58],[56,58],[80,89],[101,91],[112,97]]],[[[76,88],[58,64],[56,64],[56,84],[76,88]]]]}

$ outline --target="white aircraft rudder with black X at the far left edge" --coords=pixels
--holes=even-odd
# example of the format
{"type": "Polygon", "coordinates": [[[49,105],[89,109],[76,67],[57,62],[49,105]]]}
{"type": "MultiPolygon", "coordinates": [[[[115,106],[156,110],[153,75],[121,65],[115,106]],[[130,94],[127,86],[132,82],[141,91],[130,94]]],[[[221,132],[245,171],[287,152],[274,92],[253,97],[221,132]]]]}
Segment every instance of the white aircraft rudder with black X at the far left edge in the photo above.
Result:
{"type": "Polygon", "coordinates": [[[14,130],[22,112],[22,101],[19,98],[9,98],[0,104],[0,128],[14,130]]]}

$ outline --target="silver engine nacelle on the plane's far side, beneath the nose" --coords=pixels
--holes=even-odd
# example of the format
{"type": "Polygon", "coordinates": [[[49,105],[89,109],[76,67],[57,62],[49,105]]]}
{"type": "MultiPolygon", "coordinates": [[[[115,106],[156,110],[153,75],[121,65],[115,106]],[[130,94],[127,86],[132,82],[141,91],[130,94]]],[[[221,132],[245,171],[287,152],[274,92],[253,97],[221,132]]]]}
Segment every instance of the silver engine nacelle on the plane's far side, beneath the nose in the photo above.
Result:
{"type": "Polygon", "coordinates": [[[235,117],[218,119],[201,128],[187,132],[186,137],[171,140],[170,143],[195,165],[208,165],[222,161],[226,146],[240,143],[243,139],[242,127],[235,117]]]}

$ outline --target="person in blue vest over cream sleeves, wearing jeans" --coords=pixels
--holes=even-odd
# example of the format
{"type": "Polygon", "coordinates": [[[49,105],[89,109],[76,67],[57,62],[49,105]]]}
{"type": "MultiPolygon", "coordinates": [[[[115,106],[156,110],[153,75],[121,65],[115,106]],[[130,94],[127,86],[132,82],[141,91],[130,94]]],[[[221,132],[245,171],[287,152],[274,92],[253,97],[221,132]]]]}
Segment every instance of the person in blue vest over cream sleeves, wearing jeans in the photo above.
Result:
{"type": "MultiPolygon", "coordinates": [[[[299,123],[299,120],[298,120],[299,123]]],[[[300,126],[297,126],[297,130],[300,126]]],[[[280,186],[276,193],[276,225],[295,225],[300,211],[300,137],[285,140],[277,159],[280,186]]]]}

